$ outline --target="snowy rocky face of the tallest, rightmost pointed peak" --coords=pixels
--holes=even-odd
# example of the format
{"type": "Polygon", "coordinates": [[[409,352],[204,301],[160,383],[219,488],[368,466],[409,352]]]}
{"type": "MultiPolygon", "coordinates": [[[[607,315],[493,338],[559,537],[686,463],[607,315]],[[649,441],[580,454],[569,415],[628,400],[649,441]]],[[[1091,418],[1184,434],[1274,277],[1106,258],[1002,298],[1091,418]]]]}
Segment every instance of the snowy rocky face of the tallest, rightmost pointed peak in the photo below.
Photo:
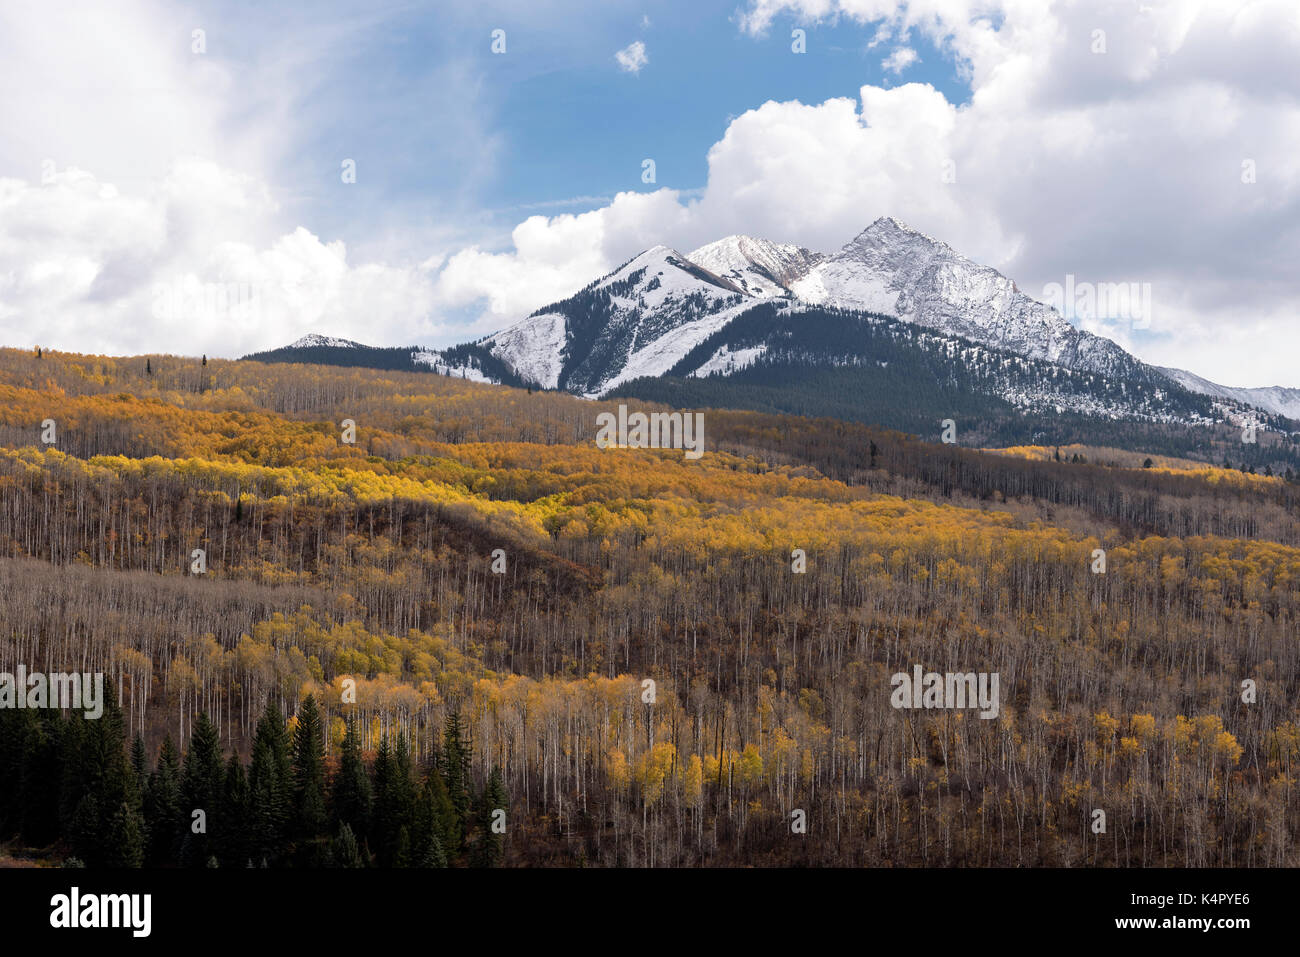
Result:
{"type": "Polygon", "coordinates": [[[992,267],[888,216],[790,289],[807,303],[896,316],[1071,369],[1117,374],[1139,364],[1114,342],[1075,329],[992,267]]]}

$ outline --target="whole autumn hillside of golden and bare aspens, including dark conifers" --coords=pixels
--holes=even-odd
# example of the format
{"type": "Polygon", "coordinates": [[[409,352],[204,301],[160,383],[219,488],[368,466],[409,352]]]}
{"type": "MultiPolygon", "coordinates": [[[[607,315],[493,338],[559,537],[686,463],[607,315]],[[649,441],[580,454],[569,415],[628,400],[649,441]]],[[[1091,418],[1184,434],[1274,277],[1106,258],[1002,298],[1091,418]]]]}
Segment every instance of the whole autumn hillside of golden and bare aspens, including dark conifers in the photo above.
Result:
{"type": "Polygon", "coordinates": [[[0,350],[0,672],[110,697],[0,710],[0,856],[1300,863],[1294,476],[616,407],[0,350]],[[916,666],[997,715],[896,707],[916,666]]]}

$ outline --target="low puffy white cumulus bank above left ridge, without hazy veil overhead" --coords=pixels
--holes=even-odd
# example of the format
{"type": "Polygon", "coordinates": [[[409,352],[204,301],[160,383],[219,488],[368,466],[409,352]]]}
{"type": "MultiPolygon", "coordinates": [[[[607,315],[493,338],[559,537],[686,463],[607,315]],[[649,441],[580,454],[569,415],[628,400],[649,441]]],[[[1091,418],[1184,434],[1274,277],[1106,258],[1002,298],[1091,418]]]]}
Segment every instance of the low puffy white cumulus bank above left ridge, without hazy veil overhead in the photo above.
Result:
{"type": "Polygon", "coordinates": [[[0,329],[8,345],[233,355],[330,329],[373,339],[433,308],[438,261],[351,264],[296,228],[263,244],[266,187],[183,160],[147,196],[78,169],[0,179],[0,329]]]}

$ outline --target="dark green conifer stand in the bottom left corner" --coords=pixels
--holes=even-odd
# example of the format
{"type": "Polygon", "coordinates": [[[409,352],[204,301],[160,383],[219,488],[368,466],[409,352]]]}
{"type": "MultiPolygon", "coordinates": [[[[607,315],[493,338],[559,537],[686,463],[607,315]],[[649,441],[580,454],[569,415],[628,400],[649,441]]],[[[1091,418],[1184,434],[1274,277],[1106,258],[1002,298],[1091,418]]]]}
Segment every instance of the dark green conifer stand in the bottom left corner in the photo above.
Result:
{"type": "Polygon", "coordinates": [[[363,753],[356,720],[326,759],[308,694],[287,722],[268,701],[251,759],[226,754],[200,714],[183,754],[127,748],[116,689],[104,714],[0,710],[0,840],[86,867],[495,867],[510,798],[498,770],[472,779],[472,742],[447,716],[443,746],[412,762],[402,733],[363,753]]]}

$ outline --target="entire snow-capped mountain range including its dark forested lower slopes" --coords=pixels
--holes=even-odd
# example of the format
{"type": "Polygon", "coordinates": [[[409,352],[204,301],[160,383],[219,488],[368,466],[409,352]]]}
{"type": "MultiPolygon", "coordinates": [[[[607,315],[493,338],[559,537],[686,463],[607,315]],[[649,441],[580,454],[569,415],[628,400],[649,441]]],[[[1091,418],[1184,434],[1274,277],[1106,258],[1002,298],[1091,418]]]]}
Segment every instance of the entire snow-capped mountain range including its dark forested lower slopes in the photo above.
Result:
{"type": "Polygon", "coordinates": [[[646,382],[671,381],[680,397],[714,406],[840,417],[871,410],[872,421],[896,428],[918,410],[946,417],[980,408],[1020,416],[1020,426],[1035,415],[1197,428],[1253,420],[1287,430],[1283,416],[1300,417],[1300,390],[1228,389],[1147,365],[892,217],[829,256],[746,235],[689,256],[655,246],[454,348],[376,350],[309,335],[250,358],[426,369],[584,397],[664,398],[646,382]]]}

